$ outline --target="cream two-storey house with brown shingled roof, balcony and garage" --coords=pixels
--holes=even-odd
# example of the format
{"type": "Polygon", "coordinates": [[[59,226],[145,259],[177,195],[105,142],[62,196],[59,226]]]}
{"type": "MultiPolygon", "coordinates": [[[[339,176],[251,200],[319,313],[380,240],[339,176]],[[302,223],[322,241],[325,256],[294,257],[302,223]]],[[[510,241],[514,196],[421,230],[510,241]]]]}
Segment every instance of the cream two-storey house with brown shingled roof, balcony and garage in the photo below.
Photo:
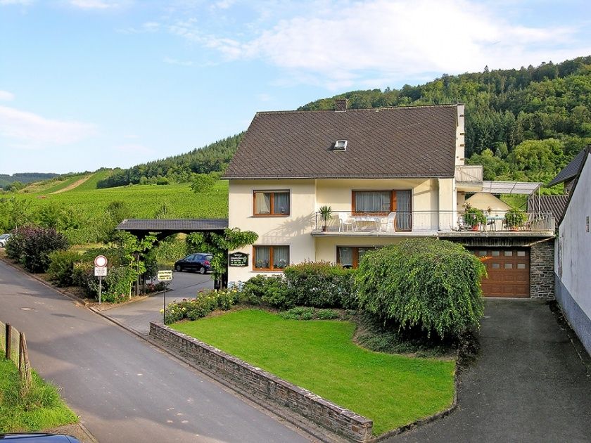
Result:
{"type": "Polygon", "coordinates": [[[350,110],[343,100],[333,111],[257,113],[225,177],[229,226],[259,236],[235,251],[248,260],[229,267],[230,284],[304,261],[357,267],[367,250],[432,236],[464,243],[490,264],[490,295],[529,297],[532,245],[553,237],[545,214],[513,232],[504,212],[485,212],[477,224],[464,213],[466,193],[499,184],[464,165],[461,104],[350,110]]]}

